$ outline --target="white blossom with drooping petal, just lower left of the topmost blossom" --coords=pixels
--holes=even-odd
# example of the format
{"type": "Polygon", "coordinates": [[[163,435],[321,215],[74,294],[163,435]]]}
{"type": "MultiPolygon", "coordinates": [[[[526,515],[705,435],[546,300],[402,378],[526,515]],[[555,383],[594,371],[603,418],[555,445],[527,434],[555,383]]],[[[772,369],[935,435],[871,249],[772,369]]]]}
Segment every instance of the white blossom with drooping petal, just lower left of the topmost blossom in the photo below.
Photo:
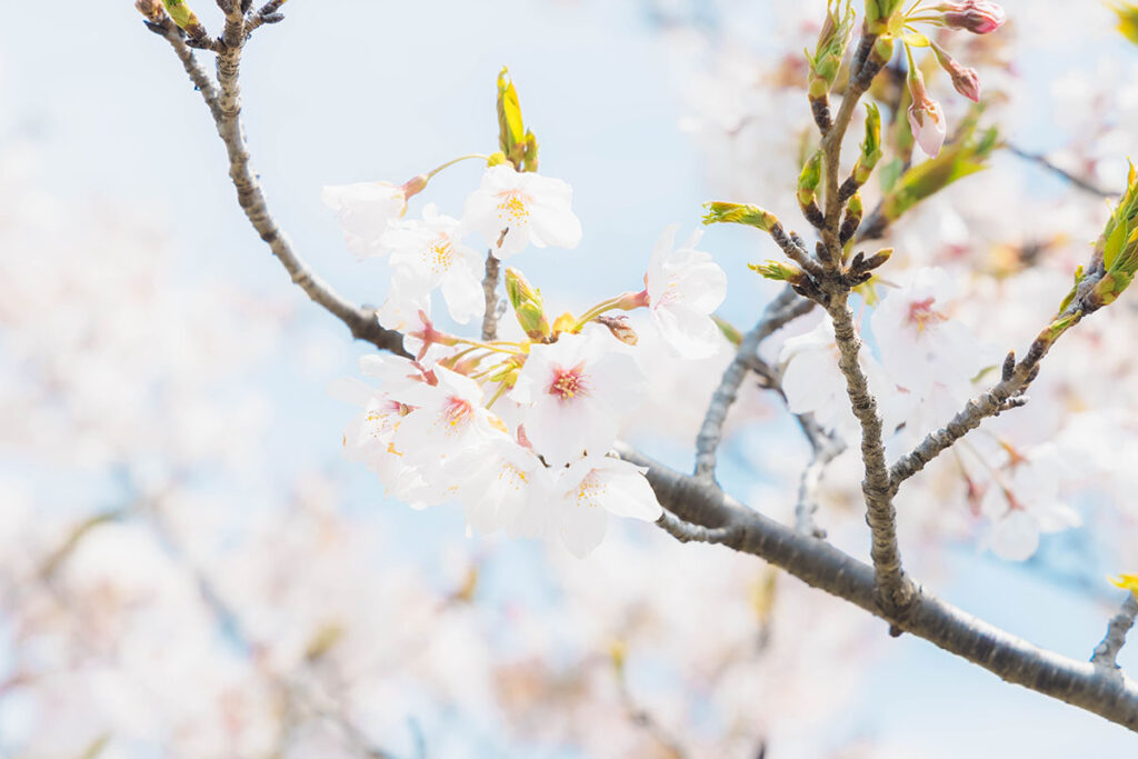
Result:
{"type": "Polygon", "coordinates": [[[391,223],[381,241],[396,272],[391,291],[414,300],[442,287],[454,321],[465,324],[479,315],[485,306],[477,274],[481,258],[459,242],[461,237],[459,220],[440,215],[435,204],[423,208],[422,221],[391,223]]]}

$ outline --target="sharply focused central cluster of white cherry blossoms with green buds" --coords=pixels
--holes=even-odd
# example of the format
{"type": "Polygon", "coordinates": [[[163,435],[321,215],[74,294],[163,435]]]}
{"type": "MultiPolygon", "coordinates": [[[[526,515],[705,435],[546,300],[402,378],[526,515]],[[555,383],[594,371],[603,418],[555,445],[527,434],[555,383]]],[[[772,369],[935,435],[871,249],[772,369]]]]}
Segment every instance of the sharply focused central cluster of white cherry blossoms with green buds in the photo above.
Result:
{"type": "MultiPolygon", "coordinates": [[[[500,107],[503,92],[511,91],[500,81],[500,107]]],[[[364,407],[345,445],[413,506],[457,501],[480,531],[560,538],[584,555],[603,538],[607,513],[649,521],[661,513],[643,470],[608,455],[645,383],[638,336],[627,316],[611,312],[646,308],[676,354],[707,357],[719,345],[710,314],[726,295],[727,278],[710,255],[695,249],[698,234],[676,248],[676,230],[669,228],[651,254],[643,290],[551,319],[541,291],[506,269],[509,304],[523,335],[497,339],[497,298],[487,297],[497,280],[487,274],[479,282],[481,257],[465,240],[480,237],[487,255],[501,261],[530,244],[572,248],[582,236],[570,187],[519,171],[505,157],[510,145],[520,143],[503,139],[503,152],[489,157],[461,220],[434,205],[421,218],[402,218],[406,197],[435,172],[402,188],[324,190],[349,248],[388,256],[391,290],[380,313],[405,330],[405,347],[414,353],[365,357],[362,370],[379,380],[378,389],[341,386],[347,399],[364,407]],[[455,322],[484,315],[480,339],[436,328],[435,290],[455,322]]],[[[527,146],[523,155],[536,156],[536,141],[527,146]]]]}

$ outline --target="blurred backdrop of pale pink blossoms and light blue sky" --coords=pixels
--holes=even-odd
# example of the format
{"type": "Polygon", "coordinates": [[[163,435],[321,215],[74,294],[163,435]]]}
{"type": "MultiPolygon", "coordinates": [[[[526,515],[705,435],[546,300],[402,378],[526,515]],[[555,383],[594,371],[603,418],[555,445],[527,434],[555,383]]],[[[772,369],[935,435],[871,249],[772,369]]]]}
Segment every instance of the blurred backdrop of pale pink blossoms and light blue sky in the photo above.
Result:
{"type": "MultiPolygon", "coordinates": [[[[216,30],[216,9],[197,5],[216,30]]],[[[1012,93],[993,106],[1005,133],[1119,187],[1138,147],[1125,126],[1138,115],[1138,48],[1097,3],[1005,5],[1011,47],[984,69],[1012,93]]],[[[365,347],[290,286],[248,228],[166,43],[125,0],[9,6],[0,754],[1057,758],[1138,746],[922,641],[891,640],[750,558],[635,523],[578,561],[468,537],[459,509],[385,498],[343,460],[354,410],[327,391],[365,347]]],[[[526,271],[546,298],[586,305],[635,287],[660,230],[694,229],[708,198],[789,197],[808,112],[768,74],[807,43],[803,19],[817,23],[823,6],[297,0],[246,53],[254,165],[302,255],[349,298],[378,304],[386,272],[348,255],[321,187],[402,182],[492,150],[494,79],[509,65],[542,172],[572,184],[585,229],[579,249],[531,253],[526,271]]],[[[430,199],[456,213],[479,175],[473,163],[448,170],[430,199]]],[[[1100,200],[1004,152],[984,176],[946,200],[987,207],[993,221],[967,228],[984,249],[1050,237],[1047,218],[1063,213],[1102,217],[1100,200]]],[[[932,246],[943,213],[923,212],[899,239],[932,246]]],[[[769,297],[744,267],[773,255],[761,245],[704,238],[732,280],[720,313],[739,324],[769,297]]],[[[687,465],[725,355],[661,390],[677,419],[634,431],[642,447],[687,465]]],[[[776,401],[749,393],[721,479],[785,515],[807,448],[776,401]]],[[[841,493],[832,503],[835,539],[864,553],[864,525],[841,493]]],[[[1089,657],[1119,601],[1104,575],[1135,570],[1133,528],[1111,515],[1131,506],[1079,504],[1087,527],[1023,563],[927,520],[906,539],[950,601],[1089,657]]]]}

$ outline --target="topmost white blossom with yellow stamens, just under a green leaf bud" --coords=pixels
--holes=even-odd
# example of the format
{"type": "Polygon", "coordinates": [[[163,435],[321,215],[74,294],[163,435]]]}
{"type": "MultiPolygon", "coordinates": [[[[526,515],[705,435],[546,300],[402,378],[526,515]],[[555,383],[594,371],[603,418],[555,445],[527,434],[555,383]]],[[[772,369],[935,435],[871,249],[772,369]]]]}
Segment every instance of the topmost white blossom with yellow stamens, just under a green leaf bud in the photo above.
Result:
{"type": "Polygon", "coordinates": [[[520,253],[530,241],[538,248],[575,248],[580,222],[569,207],[571,199],[572,188],[561,180],[502,164],[486,170],[481,185],[467,198],[462,221],[496,248],[498,258],[520,253]]]}

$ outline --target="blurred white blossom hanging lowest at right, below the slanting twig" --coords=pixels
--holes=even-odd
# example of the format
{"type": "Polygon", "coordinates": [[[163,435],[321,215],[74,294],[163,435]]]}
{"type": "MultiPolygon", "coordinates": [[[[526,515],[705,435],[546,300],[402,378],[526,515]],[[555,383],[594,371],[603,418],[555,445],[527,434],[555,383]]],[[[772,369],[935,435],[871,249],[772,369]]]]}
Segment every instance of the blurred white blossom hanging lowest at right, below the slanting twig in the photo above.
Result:
{"type": "Polygon", "coordinates": [[[1082,519],[1059,501],[1064,467],[1055,446],[1009,455],[1011,472],[1001,470],[980,504],[981,513],[992,520],[982,545],[1009,561],[1024,561],[1039,548],[1041,533],[1078,527],[1082,519]]]}

